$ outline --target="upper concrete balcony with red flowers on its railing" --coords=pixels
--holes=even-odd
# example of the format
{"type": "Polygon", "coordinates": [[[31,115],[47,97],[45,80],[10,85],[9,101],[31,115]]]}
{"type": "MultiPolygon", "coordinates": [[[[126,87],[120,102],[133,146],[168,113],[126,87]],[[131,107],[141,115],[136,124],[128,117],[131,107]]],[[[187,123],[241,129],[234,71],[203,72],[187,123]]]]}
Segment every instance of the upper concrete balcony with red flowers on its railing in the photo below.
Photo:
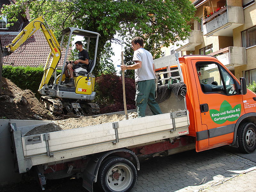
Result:
{"type": "Polygon", "coordinates": [[[203,20],[203,34],[205,36],[233,36],[233,29],[243,24],[243,7],[228,5],[203,20]]]}

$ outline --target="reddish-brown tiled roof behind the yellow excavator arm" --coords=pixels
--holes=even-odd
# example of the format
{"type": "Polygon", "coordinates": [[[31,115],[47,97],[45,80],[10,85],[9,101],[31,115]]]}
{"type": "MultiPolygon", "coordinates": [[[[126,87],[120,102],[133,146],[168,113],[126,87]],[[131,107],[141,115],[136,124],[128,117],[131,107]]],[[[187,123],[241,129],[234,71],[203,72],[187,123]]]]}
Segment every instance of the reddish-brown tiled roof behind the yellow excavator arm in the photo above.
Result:
{"type": "MultiPolygon", "coordinates": [[[[15,37],[16,35],[1,35],[2,46],[10,44],[15,37]]],[[[70,47],[68,55],[70,55],[71,49],[72,48],[70,47]]],[[[23,46],[18,48],[11,55],[5,56],[3,59],[3,65],[44,67],[50,52],[51,49],[43,32],[38,30],[33,34],[33,36],[28,38],[27,42],[25,42],[23,46]]],[[[61,53],[61,60],[58,64],[59,67],[63,66],[66,49],[63,49],[61,53]]]]}

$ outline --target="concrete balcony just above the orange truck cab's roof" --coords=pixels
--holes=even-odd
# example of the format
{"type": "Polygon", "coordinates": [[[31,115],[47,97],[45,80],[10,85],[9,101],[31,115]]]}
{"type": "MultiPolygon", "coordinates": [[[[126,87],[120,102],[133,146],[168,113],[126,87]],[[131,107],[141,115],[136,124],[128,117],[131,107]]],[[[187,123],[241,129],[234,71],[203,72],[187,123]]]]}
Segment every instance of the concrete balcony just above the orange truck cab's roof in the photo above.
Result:
{"type": "Polygon", "coordinates": [[[209,55],[215,55],[229,70],[246,65],[245,47],[226,47],[209,55]]]}

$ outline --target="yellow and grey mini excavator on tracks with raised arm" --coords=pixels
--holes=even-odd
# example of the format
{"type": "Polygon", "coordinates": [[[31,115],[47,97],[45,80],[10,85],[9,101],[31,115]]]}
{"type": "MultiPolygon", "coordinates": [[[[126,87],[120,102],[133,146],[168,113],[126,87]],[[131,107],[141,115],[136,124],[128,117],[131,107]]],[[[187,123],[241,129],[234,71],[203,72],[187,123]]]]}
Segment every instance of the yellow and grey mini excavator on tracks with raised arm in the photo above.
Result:
{"type": "Polygon", "coordinates": [[[50,48],[48,59],[44,66],[44,75],[38,92],[42,95],[40,101],[49,109],[52,115],[64,114],[66,116],[84,116],[88,114],[99,114],[100,108],[91,101],[95,99],[94,84],[95,76],[92,71],[95,67],[97,48],[100,34],[92,31],[68,27],[62,30],[61,44],[58,43],[52,30],[49,28],[44,16],[31,21],[13,41],[5,45],[8,55],[14,52],[25,41],[28,40],[38,29],[41,29],[50,48]],[[63,84],[65,80],[65,63],[67,62],[68,48],[72,36],[83,36],[87,38],[87,50],[89,50],[90,38],[96,38],[94,60],[89,60],[88,70],[82,66],[74,71],[75,87],[63,84]],[[61,58],[61,47],[65,37],[68,36],[68,44],[61,74],[57,76],[57,65],[61,58]]]}

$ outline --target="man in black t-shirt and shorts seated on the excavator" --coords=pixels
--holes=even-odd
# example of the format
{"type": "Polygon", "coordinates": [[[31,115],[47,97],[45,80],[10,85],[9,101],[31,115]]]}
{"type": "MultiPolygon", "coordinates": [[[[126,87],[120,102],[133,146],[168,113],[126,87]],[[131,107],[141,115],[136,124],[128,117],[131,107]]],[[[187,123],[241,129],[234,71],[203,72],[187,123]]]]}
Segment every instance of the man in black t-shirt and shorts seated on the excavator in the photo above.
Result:
{"type": "Polygon", "coordinates": [[[65,73],[65,81],[64,84],[66,84],[67,86],[70,87],[74,87],[75,86],[75,82],[74,82],[74,70],[76,68],[81,67],[80,64],[84,63],[86,70],[88,70],[88,64],[89,64],[89,53],[83,49],[83,44],[81,41],[77,41],[76,43],[76,50],[79,51],[78,53],[78,60],[75,61],[69,61],[68,65],[65,65],[65,68],[67,67],[67,69],[64,71],[65,73]],[[70,76],[70,79],[69,79],[70,76]]]}

